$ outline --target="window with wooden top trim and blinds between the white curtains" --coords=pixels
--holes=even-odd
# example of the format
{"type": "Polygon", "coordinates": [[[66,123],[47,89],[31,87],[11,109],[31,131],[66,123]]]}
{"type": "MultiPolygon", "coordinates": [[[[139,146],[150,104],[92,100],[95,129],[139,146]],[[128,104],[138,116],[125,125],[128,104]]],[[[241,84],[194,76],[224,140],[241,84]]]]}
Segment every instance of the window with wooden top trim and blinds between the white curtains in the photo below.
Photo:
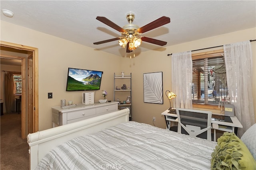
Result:
{"type": "Polygon", "coordinates": [[[223,50],[192,55],[192,103],[219,105],[229,102],[223,50]]]}

